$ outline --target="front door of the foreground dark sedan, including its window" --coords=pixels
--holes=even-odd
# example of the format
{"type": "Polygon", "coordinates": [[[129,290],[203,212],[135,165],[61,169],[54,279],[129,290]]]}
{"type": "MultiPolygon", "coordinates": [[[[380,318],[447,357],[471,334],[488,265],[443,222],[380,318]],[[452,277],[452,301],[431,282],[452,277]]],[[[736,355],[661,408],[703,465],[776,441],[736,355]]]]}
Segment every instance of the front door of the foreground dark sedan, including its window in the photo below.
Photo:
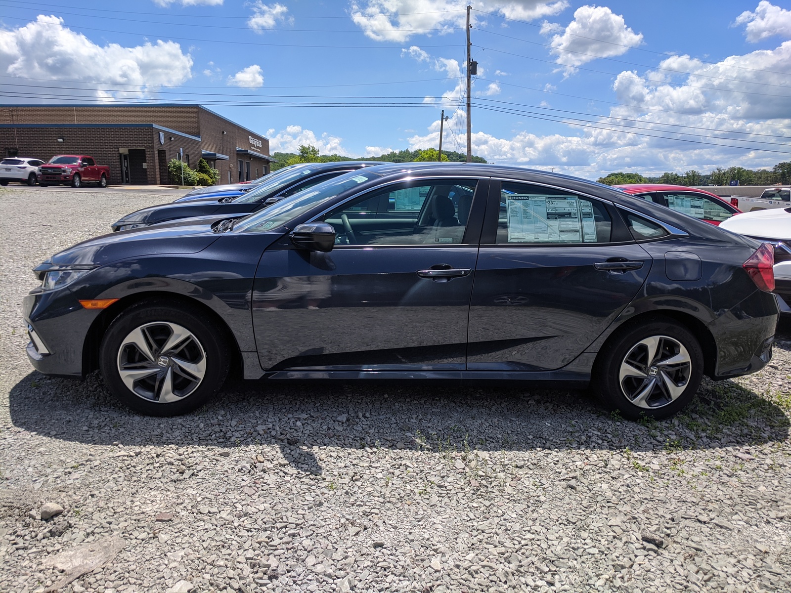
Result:
{"type": "Polygon", "coordinates": [[[287,240],[264,251],[252,302],[262,368],[463,371],[482,221],[470,213],[487,186],[389,184],[315,219],[337,232],[331,252],[287,240]]]}

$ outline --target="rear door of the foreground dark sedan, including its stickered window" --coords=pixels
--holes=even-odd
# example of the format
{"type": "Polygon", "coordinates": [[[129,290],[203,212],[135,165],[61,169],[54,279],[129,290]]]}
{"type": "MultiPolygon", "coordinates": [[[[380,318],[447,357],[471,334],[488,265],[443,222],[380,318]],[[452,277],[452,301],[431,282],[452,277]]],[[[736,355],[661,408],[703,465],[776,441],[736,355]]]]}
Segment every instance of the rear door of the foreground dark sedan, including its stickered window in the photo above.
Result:
{"type": "Polygon", "coordinates": [[[475,268],[467,368],[562,368],[638,293],[652,259],[611,204],[492,182],[475,268]]]}

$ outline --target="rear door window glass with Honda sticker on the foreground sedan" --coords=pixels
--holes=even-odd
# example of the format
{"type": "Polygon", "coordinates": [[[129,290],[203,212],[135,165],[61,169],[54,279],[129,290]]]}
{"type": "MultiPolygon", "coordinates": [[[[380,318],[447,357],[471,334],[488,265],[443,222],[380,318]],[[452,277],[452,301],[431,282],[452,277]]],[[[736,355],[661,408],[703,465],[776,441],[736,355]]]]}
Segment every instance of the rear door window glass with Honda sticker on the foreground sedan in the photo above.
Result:
{"type": "Polygon", "coordinates": [[[551,187],[502,184],[498,244],[607,243],[611,232],[600,202],[551,187]]]}

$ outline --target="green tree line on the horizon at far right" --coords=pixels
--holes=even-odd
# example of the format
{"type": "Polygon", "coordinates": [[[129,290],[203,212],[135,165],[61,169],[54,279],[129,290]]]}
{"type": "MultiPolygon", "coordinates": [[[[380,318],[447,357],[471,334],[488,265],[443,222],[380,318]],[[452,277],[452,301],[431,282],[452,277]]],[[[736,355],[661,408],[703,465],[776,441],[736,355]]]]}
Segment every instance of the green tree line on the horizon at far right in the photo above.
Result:
{"type": "Polygon", "coordinates": [[[791,163],[778,163],[771,169],[746,169],[744,167],[717,167],[708,174],[699,171],[686,173],[665,172],[659,177],[642,176],[639,173],[610,173],[598,179],[599,183],[607,185],[622,185],[623,183],[668,183],[671,185],[730,185],[732,181],[739,185],[775,185],[791,183],[791,163]]]}

